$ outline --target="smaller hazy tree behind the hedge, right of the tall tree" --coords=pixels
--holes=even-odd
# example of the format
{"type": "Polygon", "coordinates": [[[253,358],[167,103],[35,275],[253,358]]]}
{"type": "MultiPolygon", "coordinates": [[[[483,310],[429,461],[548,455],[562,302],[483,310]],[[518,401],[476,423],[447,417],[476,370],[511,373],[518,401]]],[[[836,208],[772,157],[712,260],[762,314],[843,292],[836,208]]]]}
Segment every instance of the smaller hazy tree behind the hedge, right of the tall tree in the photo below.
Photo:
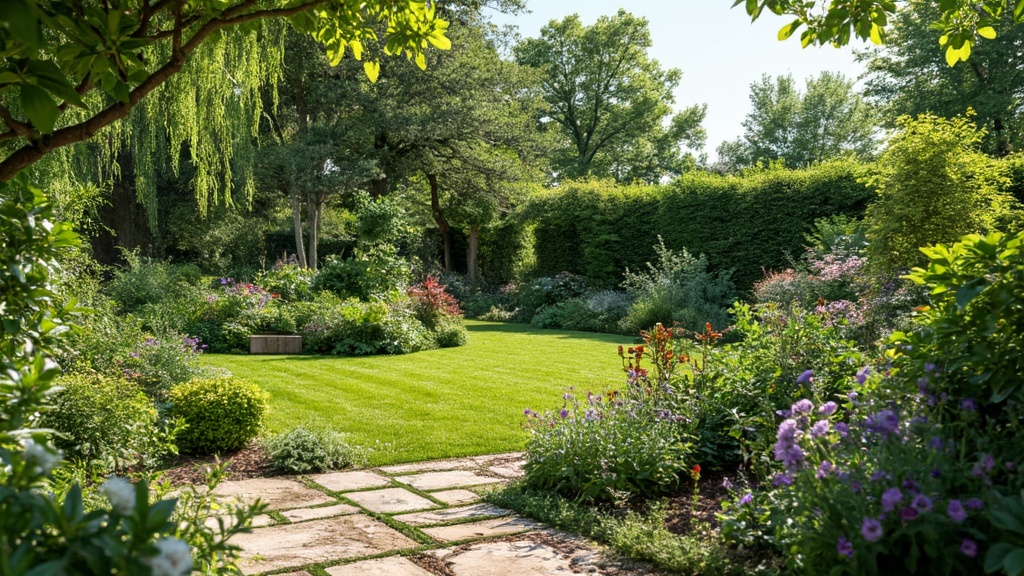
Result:
{"type": "Polygon", "coordinates": [[[844,156],[869,158],[878,146],[873,112],[841,74],[809,78],[804,92],[793,76],[765,75],[751,84],[751,105],[742,138],[718,149],[727,169],[778,160],[802,168],[844,156]]]}

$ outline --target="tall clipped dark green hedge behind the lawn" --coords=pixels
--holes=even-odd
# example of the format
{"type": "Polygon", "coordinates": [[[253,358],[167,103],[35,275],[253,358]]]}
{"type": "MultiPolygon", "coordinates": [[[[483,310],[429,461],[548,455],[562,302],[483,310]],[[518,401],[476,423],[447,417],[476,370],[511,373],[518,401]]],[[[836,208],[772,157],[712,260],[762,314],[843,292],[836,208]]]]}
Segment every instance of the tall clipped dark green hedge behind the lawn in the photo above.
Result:
{"type": "Polygon", "coordinates": [[[800,257],[816,218],[863,213],[874,198],[858,182],[864,170],[834,162],[742,176],[691,173],[666,186],[566,182],[536,194],[526,207],[537,272],[567,271],[614,286],[626,268],[654,258],[660,236],[669,248],[707,254],[713,270],[734,270],[748,289],[763,268],[786,268],[800,257]]]}

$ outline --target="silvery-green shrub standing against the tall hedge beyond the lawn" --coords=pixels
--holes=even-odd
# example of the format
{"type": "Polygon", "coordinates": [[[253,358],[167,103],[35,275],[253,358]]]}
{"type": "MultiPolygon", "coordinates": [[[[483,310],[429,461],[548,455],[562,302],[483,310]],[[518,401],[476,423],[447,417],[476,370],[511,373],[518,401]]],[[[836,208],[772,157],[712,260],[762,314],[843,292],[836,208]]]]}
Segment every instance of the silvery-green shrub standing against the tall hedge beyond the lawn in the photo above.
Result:
{"type": "Polygon", "coordinates": [[[707,323],[717,328],[729,324],[726,312],[735,299],[729,273],[708,272],[708,258],[693,257],[683,249],[675,252],[658,241],[657,263],[647,262],[645,272],[626,271],[623,287],[634,298],[623,319],[627,332],[639,332],[655,324],[679,324],[699,330],[707,323]]]}

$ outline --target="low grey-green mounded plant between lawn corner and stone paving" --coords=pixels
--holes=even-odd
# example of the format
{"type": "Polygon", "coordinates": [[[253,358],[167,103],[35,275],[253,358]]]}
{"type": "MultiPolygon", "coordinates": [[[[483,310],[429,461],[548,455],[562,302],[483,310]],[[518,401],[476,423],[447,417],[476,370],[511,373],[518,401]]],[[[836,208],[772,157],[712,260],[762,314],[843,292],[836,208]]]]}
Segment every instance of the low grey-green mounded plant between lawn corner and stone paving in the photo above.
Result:
{"type": "Polygon", "coordinates": [[[266,443],[273,467],[288,474],[340,469],[361,461],[345,435],[315,425],[296,426],[266,443]]]}

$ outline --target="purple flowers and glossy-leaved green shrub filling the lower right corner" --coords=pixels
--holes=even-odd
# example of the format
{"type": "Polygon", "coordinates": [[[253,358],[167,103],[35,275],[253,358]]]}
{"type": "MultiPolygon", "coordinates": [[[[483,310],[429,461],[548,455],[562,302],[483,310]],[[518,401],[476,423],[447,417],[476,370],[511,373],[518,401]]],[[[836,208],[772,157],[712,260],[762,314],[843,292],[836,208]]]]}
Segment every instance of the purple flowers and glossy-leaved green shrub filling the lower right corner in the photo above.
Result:
{"type": "Polygon", "coordinates": [[[730,506],[731,540],[776,547],[808,573],[949,574],[981,558],[988,572],[1019,571],[1022,241],[926,250],[910,278],[932,305],[893,334],[884,364],[848,376],[841,406],[801,401],[783,415],[779,488],[730,506]]]}

